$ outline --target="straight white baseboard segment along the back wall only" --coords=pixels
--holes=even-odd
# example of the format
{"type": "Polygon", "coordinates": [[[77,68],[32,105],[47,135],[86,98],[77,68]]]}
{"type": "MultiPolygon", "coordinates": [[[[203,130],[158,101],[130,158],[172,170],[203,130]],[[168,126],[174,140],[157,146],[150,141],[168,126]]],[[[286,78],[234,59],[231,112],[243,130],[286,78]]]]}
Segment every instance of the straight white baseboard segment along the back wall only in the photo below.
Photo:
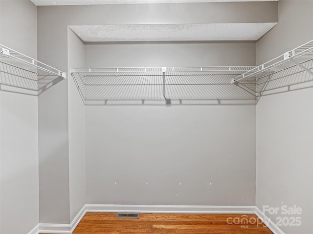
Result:
{"type": "Polygon", "coordinates": [[[181,214],[255,214],[255,206],[172,206],[172,205],[96,205],[86,212],[181,213],[181,214]]]}

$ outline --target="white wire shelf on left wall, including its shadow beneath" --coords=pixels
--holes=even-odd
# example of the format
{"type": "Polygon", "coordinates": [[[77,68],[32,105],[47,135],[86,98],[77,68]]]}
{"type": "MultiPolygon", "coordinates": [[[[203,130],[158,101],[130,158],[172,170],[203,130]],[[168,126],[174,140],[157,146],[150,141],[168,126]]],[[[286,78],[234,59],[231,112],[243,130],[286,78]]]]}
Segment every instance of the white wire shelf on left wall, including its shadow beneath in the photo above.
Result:
{"type": "Polygon", "coordinates": [[[40,95],[66,73],[0,44],[1,90],[40,95]]]}

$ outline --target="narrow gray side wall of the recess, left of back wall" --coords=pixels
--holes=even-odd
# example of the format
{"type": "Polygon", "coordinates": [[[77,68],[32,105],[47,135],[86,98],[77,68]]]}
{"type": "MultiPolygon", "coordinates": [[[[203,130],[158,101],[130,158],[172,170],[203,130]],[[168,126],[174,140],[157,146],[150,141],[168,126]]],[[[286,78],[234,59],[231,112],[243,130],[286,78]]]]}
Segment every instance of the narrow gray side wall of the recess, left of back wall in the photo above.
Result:
{"type": "MultiPolygon", "coordinates": [[[[85,67],[85,46],[68,28],[69,67],[85,67]]],[[[68,77],[68,158],[70,222],[86,204],[85,105],[73,78],[68,77]]]]}

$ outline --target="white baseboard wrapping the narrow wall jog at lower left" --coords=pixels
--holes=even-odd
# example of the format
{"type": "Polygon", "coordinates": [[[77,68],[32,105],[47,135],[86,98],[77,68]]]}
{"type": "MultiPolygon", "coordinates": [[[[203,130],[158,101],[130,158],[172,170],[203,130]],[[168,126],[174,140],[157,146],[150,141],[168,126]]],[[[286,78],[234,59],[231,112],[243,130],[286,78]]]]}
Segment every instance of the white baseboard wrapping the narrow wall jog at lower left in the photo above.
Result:
{"type": "Polygon", "coordinates": [[[39,233],[45,234],[72,234],[77,227],[80,220],[86,214],[86,206],[78,212],[70,224],[54,224],[54,223],[40,223],[39,233]]]}

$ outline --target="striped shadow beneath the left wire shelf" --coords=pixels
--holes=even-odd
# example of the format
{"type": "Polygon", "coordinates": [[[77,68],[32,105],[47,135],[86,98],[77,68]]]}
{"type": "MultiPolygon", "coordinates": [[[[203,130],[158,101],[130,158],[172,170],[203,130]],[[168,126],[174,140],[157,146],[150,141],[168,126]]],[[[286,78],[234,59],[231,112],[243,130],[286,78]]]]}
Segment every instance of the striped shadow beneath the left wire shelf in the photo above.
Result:
{"type": "Polygon", "coordinates": [[[0,61],[0,90],[38,96],[63,80],[43,71],[27,71],[0,61]]]}

